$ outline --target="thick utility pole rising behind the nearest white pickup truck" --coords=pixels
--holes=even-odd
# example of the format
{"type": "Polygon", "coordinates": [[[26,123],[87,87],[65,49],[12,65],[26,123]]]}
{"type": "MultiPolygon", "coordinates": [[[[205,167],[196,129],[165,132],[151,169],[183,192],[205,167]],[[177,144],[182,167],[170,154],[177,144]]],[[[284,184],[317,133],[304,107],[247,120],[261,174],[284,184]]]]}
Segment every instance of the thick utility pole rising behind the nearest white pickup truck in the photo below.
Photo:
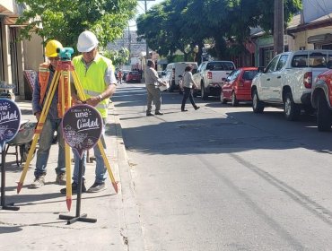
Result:
{"type": "Polygon", "coordinates": [[[275,55],[284,52],[284,0],[275,0],[275,55]]]}

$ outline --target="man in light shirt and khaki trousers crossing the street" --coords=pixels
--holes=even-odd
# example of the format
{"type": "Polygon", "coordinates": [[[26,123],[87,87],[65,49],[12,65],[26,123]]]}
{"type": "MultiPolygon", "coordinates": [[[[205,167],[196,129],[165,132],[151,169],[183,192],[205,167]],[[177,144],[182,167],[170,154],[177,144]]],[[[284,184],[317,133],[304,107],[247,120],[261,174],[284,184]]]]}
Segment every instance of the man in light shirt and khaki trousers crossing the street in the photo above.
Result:
{"type": "Polygon", "coordinates": [[[158,77],[157,71],[154,69],[155,65],[152,60],[147,61],[145,69],[145,86],[147,91],[147,109],[146,116],[153,116],[151,112],[153,104],[155,105],[154,114],[163,115],[161,111],[162,96],[159,86],[166,86],[165,82],[158,77]]]}

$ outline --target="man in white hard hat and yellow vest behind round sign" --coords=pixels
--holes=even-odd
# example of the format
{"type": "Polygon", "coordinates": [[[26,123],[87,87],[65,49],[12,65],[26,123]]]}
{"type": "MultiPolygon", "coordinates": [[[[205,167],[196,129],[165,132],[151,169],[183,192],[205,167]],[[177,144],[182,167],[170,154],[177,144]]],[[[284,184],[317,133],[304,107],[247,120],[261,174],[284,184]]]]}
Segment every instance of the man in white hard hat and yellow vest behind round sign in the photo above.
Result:
{"type": "MultiPolygon", "coordinates": [[[[87,100],[79,100],[77,95],[73,94],[74,102],[77,104],[83,101],[97,108],[103,121],[103,129],[101,134],[101,142],[106,148],[104,142],[105,125],[108,117],[109,97],[113,95],[117,88],[117,79],[114,74],[114,66],[109,58],[101,56],[98,53],[99,41],[92,31],[85,30],[78,37],[77,50],[82,53],[80,56],[73,58],[75,72],[81,82],[84,94],[87,100]]],[[[86,151],[83,153],[83,183],[82,192],[96,193],[106,189],[106,166],[102,159],[98,144],[93,148],[94,156],[96,158],[95,180],[93,185],[86,190],[84,185],[84,174],[86,167],[86,151]]],[[[77,193],[78,190],[78,171],[79,171],[80,157],[74,151],[74,173],[72,192],[77,193]]],[[[66,194],[66,188],[60,190],[62,194],[66,194]]]]}

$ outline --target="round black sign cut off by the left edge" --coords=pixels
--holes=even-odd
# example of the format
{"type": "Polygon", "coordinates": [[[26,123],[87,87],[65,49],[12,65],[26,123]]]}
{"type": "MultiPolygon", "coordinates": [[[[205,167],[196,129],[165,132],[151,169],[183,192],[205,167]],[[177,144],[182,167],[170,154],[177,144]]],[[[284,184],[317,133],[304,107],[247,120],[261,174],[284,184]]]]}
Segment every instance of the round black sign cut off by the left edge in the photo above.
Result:
{"type": "Polygon", "coordinates": [[[13,140],[21,124],[20,108],[8,99],[0,99],[0,145],[13,140]]]}

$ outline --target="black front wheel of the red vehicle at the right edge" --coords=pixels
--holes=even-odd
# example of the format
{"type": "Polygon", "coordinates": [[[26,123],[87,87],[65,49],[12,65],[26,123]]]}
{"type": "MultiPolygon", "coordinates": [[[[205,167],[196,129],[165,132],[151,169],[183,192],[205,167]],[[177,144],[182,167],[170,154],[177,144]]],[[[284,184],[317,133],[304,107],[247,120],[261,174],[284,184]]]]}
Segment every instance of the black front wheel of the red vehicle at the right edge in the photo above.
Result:
{"type": "Polygon", "coordinates": [[[319,132],[328,132],[331,130],[331,111],[328,108],[328,102],[323,94],[318,97],[317,108],[317,126],[319,132]]]}

